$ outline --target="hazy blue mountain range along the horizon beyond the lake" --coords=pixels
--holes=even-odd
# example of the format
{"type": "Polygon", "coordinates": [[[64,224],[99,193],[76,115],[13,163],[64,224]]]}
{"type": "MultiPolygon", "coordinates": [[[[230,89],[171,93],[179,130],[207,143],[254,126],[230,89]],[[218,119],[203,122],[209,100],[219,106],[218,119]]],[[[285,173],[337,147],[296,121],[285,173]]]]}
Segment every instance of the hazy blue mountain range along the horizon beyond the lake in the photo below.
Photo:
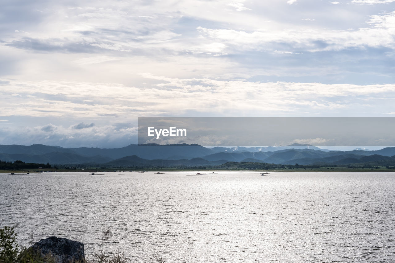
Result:
{"type": "Polygon", "coordinates": [[[122,148],[63,148],[48,145],[0,145],[0,160],[59,165],[90,164],[108,167],[151,165],[220,165],[226,162],[275,164],[394,165],[395,147],[381,150],[332,151],[312,145],[280,147],[214,147],[201,145],[128,145],[122,148]]]}

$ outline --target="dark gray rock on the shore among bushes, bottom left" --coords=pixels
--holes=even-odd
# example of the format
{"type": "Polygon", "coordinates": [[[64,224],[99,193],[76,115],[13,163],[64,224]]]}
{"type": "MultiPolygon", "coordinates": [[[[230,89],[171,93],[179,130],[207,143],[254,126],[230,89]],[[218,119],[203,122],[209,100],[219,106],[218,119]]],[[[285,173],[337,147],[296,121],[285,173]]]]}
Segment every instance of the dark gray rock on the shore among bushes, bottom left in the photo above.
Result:
{"type": "Polygon", "coordinates": [[[85,263],[84,244],[70,239],[60,237],[41,239],[28,248],[28,251],[34,254],[41,253],[42,259],[55,263],[85,263]]]}

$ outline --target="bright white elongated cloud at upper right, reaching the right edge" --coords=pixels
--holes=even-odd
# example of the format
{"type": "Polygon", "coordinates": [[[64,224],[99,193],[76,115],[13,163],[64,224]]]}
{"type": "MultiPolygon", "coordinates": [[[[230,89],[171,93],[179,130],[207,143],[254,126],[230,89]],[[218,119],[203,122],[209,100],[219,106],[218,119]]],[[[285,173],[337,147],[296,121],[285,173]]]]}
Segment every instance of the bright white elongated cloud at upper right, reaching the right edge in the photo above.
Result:
{"type": "Polygon", "coordinates": [[[210,29],[198,27],[207,39],[223,43],[228,48],[226,53],[238,50],[274,49],[279,44],[287,43],[292,49],[318,52],[339,51],[349,48],[386,47],[395,49],[395,11],[382,15],[372,15],[367,21],[370,27],[357,30],[283,30],[277,32],[246,32],[233,29],[210,29]]]}

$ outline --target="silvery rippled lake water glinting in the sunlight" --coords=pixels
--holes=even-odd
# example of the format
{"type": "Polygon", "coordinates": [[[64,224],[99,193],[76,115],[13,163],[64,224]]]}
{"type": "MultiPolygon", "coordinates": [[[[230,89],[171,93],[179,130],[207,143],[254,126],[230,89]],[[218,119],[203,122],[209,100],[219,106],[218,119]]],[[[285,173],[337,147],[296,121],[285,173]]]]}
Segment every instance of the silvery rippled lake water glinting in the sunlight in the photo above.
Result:
{"type": "Polygon", "coordinates": [[[1,226],[132,262],[395,262],[395,173],[193,173],[0,175],[1,226]]]}

